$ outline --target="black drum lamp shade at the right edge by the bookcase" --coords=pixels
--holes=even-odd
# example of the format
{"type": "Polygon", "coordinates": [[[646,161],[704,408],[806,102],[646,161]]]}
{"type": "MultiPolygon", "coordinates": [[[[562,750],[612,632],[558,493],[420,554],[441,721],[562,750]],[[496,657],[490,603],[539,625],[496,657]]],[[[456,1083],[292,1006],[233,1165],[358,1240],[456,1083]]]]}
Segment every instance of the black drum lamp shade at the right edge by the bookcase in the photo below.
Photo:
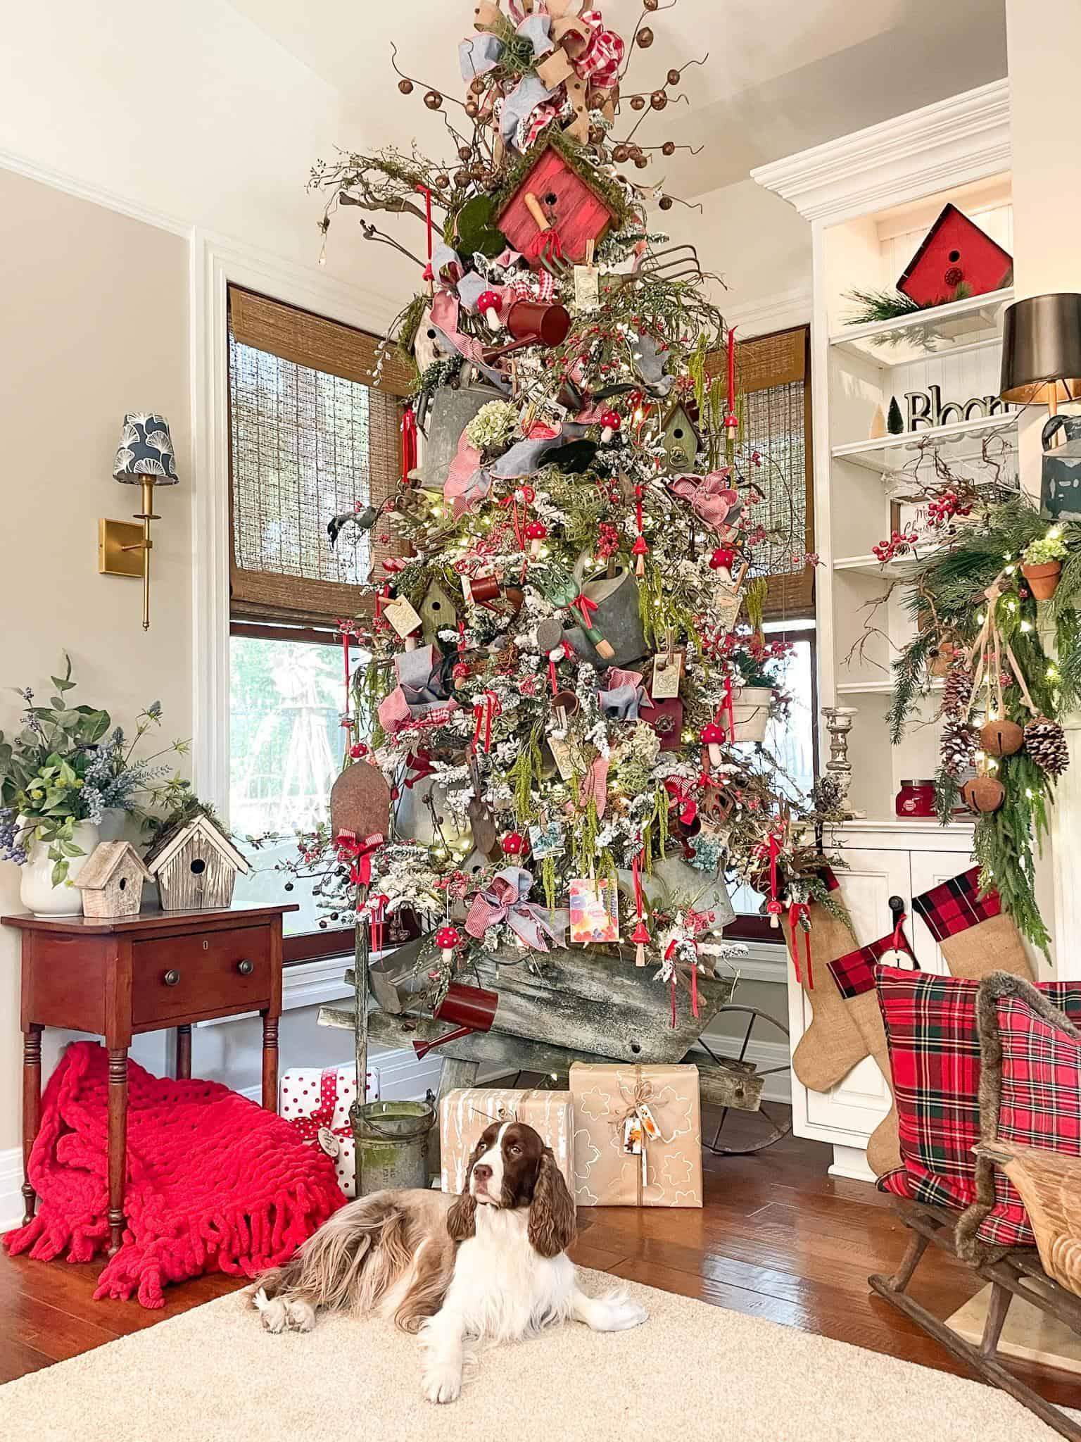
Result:
{"type": "Polygon", "coordinates": [[[1002,398],[1072,401],[1081,397],[1081,296],[1018,300],[1003,319],[1002,398]]]}

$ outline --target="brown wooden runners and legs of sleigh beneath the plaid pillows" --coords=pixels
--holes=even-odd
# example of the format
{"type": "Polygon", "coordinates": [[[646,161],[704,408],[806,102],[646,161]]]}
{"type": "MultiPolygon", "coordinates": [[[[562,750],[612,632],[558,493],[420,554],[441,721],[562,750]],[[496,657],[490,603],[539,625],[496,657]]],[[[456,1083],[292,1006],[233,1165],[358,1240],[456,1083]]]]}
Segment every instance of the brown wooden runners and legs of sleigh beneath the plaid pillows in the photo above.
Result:
{"type": "Polygon", "coordinates": [[[990,1282],[992,1286],[983,1337],[979,1345],[974,1345],[956,1332],[947,1322],[928,1312],[920,1302],[915,1302],[907,1291],[908,1283],[912,1280],[912,1273],[928,1246],[938,1247],[950,1253],[950,1256],[957,1256],[954,1239],[956,1213],[940,1207],[928,1207],[921,1203],[907,1203],[899,1198],[897,1210],[912,1236],[909,1237],[901,1265],[892,1276],[876,1273],[868,1278],[875,1292],[884,1301],[889,1302],[891,1306],[897,1308],[898,1312],[902,1312],[915,1322],[928,1337],[933,1337],[946,1347],[958,1361],[966,1363],[983,1381],[1009,1393],[1023,1407],[1028,1407],[1042,1422],[1046,1422],[1059,1436],[1069,1438],[1071,1442],[1081,1442],[1081,1425],[1009,1371],[999,1353],[1002,1328],[1015,1296],[1023,1298],[1023,1301],[1065,1322],[1077,1332],[1081,1332],[1081,1298],[1074,1296],[1072,1292],[1068,1292],[1046,1275],[1035,1249],[1006,1252],[993,1262],[966,1262],[964,1265],[971,1272],[984,1282],[990,1282]]]}

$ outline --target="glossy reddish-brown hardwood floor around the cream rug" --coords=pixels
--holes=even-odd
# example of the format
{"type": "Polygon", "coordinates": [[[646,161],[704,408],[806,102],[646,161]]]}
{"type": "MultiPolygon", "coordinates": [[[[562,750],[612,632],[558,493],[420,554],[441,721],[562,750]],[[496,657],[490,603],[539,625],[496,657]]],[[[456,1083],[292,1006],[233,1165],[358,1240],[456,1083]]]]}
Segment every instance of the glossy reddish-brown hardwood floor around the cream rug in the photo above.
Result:
{"type": "MultiPolygon", "coordinates": [[[[894,1270],[905,1246],[902,1227],[869,1185],[827,1177],[829,1161],[829,1148],[793,1136],[755,1156],[706,1152],[700,1211],[584,1208],[572,1256],[613,1276],[967,1376],[868,1288],[868,1273],[894,1270]]],[[[0,1253],[0,1381],[242,1285],[199,1278],[167,1288],[166,1306],[147,1312],[135,1302],[95,1302],[98,1270],[99,1263],[68,1266],[0,1253]]],[[[938,1317],[976,1291],[960,1265],[934,1256],[921,1263],[912,1286],[938,1317]]],[[[1051,1400],[1077,1405],[1075,1379],[1035,1367],[1025,1374],[1051,1400]]]]}

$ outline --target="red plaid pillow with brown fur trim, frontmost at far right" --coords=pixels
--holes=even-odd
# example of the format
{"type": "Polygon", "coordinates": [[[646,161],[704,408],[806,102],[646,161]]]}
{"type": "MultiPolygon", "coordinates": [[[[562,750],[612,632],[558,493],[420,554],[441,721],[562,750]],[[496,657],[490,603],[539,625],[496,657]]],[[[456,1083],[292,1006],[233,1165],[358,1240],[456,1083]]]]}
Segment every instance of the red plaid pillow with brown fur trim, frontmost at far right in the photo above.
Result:
{"type": "MultiPolygon", "coordinates": [[[[1081,1040],[1041,1017],[1023,996],[1000,996],[997,1017],[1002,1084],[996,1135],[1003,1142],[1081,1156],[1081,1040]]],[[[995,1206],[982,1217],[976,1239],[996,1247],[1018,1246],[1019,1237],[1035,1242],[1013,1182],[997,1167],[993,1177],[995,1206]]]]}

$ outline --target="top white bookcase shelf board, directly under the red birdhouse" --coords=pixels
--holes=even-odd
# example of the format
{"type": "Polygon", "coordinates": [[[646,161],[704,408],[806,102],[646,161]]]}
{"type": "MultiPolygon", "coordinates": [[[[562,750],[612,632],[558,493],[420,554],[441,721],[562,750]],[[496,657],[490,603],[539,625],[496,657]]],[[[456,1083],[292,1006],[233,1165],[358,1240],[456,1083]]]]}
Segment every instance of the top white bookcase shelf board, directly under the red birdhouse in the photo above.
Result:
{"type": "Polygon", "coordinates": [[[993,290],[948,306],[917,310],[897,320],[845,326],[830,336],[830,346],[882,369],[928,356],[979,350],[1002,339],[1002,313],[1012,300],[1012,290],[993,290]]]}

